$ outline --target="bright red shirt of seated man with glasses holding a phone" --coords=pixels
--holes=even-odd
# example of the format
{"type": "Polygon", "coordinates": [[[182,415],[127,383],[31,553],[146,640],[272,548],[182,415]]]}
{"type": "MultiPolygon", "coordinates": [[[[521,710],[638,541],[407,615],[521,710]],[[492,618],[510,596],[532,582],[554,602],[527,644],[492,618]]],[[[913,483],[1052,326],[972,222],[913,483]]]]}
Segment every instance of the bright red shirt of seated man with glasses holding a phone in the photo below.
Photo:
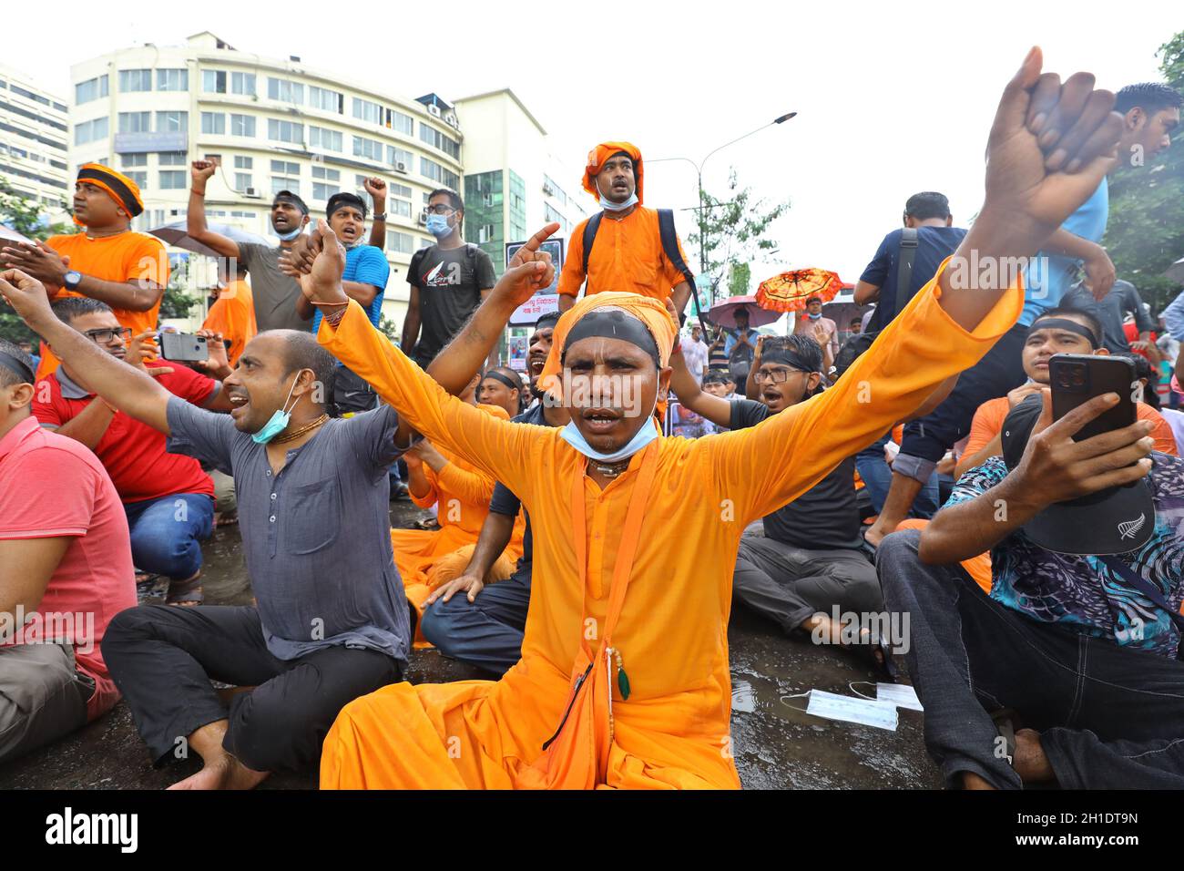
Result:
{"type": "MultiPolygon", "coordinates": [[[[156,377],[170,393],[204,405],[217,389],[217,382],[185,366],[156,377]]],[[[60,427],[83,412],[94,401],[58,371],[37,384],[33,415],[41,425],[60,427]],[[46,391],[45,388],[49,388],[46,391]],[[41,402],[46,398],[47,402],[41,402]]],[[[214,482],[201,470],[192,456],[169,454],[165,450],[165,434],[147,423],[117,412],[103,437],[95,447],[107,474],[124,502],[142,502],[174,493],[214,494],[214,482]]]]}

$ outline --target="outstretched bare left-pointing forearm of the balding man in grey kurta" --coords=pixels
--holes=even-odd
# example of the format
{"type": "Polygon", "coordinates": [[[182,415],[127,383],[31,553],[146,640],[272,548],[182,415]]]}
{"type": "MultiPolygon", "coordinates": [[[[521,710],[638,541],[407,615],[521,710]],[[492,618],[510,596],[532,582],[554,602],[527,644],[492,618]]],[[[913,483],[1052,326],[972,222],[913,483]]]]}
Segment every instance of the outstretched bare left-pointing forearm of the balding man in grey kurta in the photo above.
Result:
{"type": "MultiPolygon", "coordinates": [[[[82,333],[63,324],[50,308],[45,287],[19,269],[0,275],[0,295],[28,328],[53,347],[58,358],[85,382],[83,386],[137,421],[168,435],[168,397],[146,371],[111,357],[82,333]]],[[[365,315],[363,315],[365,316],[365,315]]],[[[170,370],[166,370],[170,371],[170,370]]]]}

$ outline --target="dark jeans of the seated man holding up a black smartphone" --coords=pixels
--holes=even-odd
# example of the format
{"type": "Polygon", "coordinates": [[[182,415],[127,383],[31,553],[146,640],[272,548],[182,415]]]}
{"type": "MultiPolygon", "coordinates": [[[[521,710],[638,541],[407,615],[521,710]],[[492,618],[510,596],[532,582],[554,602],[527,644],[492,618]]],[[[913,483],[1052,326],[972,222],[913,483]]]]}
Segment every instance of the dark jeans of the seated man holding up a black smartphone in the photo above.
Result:
{"type": "Polygon", "coordinates": [[[1067,789],[1184,788],[1184,662],[1030,620],[921,563],[919,540],[888,536],[877,565],[888,608],[909,614],[908,671],[947,784],[973,771],[1022,786],[987,713],[1008,707],[1067,789]]]}

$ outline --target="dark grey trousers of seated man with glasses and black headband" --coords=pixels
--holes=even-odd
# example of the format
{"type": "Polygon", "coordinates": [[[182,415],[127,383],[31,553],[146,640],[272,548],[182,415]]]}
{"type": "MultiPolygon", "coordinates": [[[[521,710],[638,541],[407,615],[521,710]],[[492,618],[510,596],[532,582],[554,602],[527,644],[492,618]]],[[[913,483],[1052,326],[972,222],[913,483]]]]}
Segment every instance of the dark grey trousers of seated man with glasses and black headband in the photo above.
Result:
{"type": "Polygon", "coordinates": [[[776,620],[786,633],[822,611],[883,610],[876,570],[857,550],[805,550],[744,536],[732,579],[735,598],[776,620]]]}

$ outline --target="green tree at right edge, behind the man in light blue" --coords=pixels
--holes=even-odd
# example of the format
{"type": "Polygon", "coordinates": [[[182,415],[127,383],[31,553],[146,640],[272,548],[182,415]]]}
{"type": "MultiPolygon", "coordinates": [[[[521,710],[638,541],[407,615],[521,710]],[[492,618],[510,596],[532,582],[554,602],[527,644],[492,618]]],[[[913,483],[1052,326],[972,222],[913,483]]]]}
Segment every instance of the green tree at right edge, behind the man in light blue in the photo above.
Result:
{"type": "MultiPolygon", "coordinates": [[[[1164,79],[1184,92],[1184,31],[1157,55],[1164,79]]],[[[1163,273],[1184,257],[1184,142],[1173,143],[1147,166],[1120,165],[1111,175],[1109,199],[1103,244],[1118,277],[1138,287],[1158,314],[1180,289],[1163,273]]]]}

